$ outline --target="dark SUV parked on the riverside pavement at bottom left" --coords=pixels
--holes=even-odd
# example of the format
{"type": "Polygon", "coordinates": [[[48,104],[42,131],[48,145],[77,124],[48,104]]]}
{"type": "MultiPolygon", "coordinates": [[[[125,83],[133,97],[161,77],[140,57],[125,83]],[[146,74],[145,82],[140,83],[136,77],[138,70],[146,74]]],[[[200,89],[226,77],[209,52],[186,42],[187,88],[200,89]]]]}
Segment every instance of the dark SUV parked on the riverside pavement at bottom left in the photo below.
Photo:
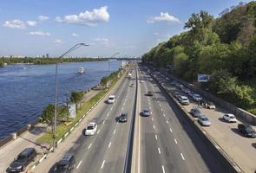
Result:
{"type": "Polygon", "coordinates": [[[7,172],[22,172],[26,167],[36,160],[36,150],[34,148],[24,149],[16,159],[10,163],[7,172]]]}

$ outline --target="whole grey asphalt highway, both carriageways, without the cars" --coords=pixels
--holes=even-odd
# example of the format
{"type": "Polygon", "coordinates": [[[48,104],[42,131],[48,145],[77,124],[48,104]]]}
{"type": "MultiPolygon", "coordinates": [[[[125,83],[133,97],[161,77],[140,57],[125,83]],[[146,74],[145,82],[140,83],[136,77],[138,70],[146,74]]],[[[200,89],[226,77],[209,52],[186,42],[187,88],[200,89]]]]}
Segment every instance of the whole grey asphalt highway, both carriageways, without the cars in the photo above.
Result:
{"type": "MultiPolygon", "coordinates": [[[[122,79],[109,93],[115,95],[115,103],[107,104],[102,100],[85,119],[86,125],[90,121],[97,123],[95,135],[84,136],[84,127],[78,127],[75,140],[67,144],[69,138],[65,139],[66,144],[60,147],[68,148],[65,153],[75,155],[75,168],[72,172],[228,172],[225,165],[211,154],[207,144],[172,100],[150,79],[141,68],[133,67],[132,78],[122,79]],[[131,87],[131,84],[135,84],[135,87],[131,87]],[[147,96],[148,91],[154,95],[147,96]],[[137,113],[134,112],[135,107],[137,113]],[[143,109],[148,109],[151,115],[142,117],[140,112],[143,109]],[[126,123],[117,121],[121,113],[128,114],[126,123]],[[134,143],[129,138],[133,134],[130,133],[133,117],[136,119],[134,136],[131,136],[134,143]],[[132,157],[128,157],[131,156],[128,155],[131,152],[128,146],[131,144],[134,151],[132,157]],[[126,170],[130,169],[126,167],[128,160],[136,163],[133,170],[126,170]]],[[[62,157],[55,160],[53,155],[49,155],[45,163],[40,163],[35,172],[43,172],[46,165],[53,165],[62,157]]]]}

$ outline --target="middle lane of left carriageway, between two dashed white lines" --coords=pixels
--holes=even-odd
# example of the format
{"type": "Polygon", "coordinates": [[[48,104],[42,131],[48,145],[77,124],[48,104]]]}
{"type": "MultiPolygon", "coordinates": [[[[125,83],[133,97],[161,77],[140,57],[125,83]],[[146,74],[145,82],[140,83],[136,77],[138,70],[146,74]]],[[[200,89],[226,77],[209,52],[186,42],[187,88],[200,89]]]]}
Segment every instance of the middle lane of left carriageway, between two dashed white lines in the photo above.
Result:
{"type": "MultiPolygon", "coordinates": [[[[130,80],[128,80],[128,84],[130,83],[130,80]]],[[[106,155],[106,152],[108,150],[109,145],[109,139],[111,139],[112,134],[115,131],[115,125],[116,125],[116,117],[120,115],[121,112],[121,104],[123,104],[124,100],[122,98],[125,98],[125,95],[129,95],[129,87],[125,87],[125,93],[121,94],[119,96],[120,99],[117,99],[115,101],[115,104],[113,106],[113,112],[110,112],[109,114],[109,124],[105,123],[104,126],[102,126],[102,129],[100,134],[96,134],[97,138],[95,140],[95,144],[92,144],[90,147],[90,150],[87,151],[85,154],[86,156],[82,155],[81,164],[79,168],[77,169],[78,172],[82,172],[83,170],[88,170],[89,172],[98,172],[99,170],[102,170],[105,164],[105,161],[103,158],[106,155]],[[113,132],[109,132],[113,131],[113,132]]],[[[78,153],[82,153],[78,151],[78,153]]]]}

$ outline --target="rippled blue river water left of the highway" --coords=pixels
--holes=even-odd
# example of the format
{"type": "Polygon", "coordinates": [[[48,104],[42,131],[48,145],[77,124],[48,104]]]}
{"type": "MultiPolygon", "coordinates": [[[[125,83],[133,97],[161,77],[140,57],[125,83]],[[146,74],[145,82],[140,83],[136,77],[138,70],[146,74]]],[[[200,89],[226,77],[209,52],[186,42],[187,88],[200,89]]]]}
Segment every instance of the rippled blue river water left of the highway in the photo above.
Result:
{"type": "MultiPolygon", "coordinates": [[[[120,61],[110,61],[110,72],[120,61]]],[[[0,139],[36,120],[43,107],[55,102],[56,65],[13,65],[0,67],[0,139]]],[[[63,63],[58,69],[59,103],[70,92],[86,90],[108,74],[108,61],[63,63]],[[84,74],[78,74],[78,68],[84,74]]]]}

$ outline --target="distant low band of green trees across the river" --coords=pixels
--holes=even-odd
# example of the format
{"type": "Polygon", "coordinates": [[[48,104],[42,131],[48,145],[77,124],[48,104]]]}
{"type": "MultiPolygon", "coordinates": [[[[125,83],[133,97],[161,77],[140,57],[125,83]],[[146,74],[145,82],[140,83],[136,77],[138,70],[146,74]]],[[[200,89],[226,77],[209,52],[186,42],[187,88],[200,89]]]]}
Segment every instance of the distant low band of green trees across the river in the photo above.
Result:
{"type": "Polygon", "coordinates": [[[56,64],[56,62],[83,62],[83,61],[108,61],[105,58],[35,58],[35,57],[24,57],[24,58],[0,58],[1,61],[7,64],[15,63],[32,63],[32,64],[56,64]]]}

